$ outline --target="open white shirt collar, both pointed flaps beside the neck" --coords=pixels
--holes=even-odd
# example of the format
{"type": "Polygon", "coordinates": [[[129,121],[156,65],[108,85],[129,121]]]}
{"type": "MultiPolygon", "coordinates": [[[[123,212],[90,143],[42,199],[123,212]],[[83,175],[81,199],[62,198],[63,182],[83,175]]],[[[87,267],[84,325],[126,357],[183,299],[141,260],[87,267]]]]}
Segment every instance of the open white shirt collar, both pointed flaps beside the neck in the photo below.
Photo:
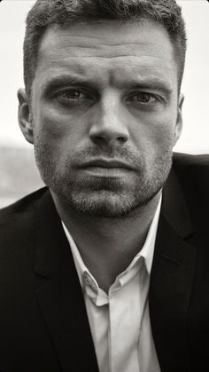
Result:
{"type": "MultiPolygon", "coordinates": [[[[120,284],[123,283],[123,281],[124,281],[123,278],[125,276],[126,276],[127,279],[128,279],[128,277],[131,279],[133,277],[133,274],[132,274],[133,271],[139,270],[139,268],[136,269],[136,266],[140,262],[140,260],[142,260],[142,257],[143,257],[143,261],[144,261],[147,273],[150,275],[151,265],[152,265],[152,260],[153,260],[153,254],[154,254],[156,234],[157,234],[158,225],[159,225],[159,212],[160,212],[160,208],[161,208],[161,202],[162,202],[162,195],[160,194],[159,203],[158,203],[157,209],[155,211],[154,217],[152,218],[151,226],[149,228],[149,231],[148,231],[148,234],[147,234],[147,237],[146,237],[146,241],[143,244],[143,248],[133,258],[131,263],[128,265],[127,269],[123,273],[120,273],[120,275],[118,275],[118,277],[116,278],[116,281],[120,281],[120,284]]],[[[72,254],[73,254],[73,257],[74,257],[74,265],[75,265],[76,271],[78,273],[78,277],[79,277],[79,281],[81,283],[81,287],[83,288],[83,277],[87,278],[86,273],[88,273],[89,277],[91,278],[91,280],[93,280],[94,284],[96,285],[96,287],[98,289],[97,281],[95,280],[93,275],[89,272],[88,267],[84,264],[84,262],[81,258],[81,254],[79,252],[79,249],[77,248],[72,235],[67,230],[63,221],[62,221],[62,226],[64,228],[64,231],[66,233],[66,238],[69,241],[70,248],[72,250],[72,254]]],[[[127,279],[126,279],[126,281],[127,281],[127,279]]]]}

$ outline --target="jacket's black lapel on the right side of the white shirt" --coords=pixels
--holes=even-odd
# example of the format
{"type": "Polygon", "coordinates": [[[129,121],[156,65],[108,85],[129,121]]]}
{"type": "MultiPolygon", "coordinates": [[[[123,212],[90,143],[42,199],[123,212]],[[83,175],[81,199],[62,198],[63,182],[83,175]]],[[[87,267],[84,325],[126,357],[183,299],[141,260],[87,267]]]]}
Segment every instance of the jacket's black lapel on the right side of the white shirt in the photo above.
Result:
{"type": "Polygon", "coordinates": [[[171,172],[163,192],[151,270],[151,328],[162,372],[190,371],[187,312],[196,248],[182,190],[171,172]]]}

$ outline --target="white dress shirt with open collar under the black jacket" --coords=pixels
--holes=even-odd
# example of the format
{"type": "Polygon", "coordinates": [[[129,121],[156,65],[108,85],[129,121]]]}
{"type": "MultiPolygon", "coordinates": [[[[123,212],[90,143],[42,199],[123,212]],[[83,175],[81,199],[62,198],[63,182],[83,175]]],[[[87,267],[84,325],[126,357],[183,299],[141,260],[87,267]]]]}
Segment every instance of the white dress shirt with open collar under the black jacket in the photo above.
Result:
{"type": "Polygon", "coordinates": [[[108,294],[89,273],[63,223],[81,282],[100,372],[160,372],[148,304],[160,206],[161,197],[143,249],[117,276],[108,294]]]}

